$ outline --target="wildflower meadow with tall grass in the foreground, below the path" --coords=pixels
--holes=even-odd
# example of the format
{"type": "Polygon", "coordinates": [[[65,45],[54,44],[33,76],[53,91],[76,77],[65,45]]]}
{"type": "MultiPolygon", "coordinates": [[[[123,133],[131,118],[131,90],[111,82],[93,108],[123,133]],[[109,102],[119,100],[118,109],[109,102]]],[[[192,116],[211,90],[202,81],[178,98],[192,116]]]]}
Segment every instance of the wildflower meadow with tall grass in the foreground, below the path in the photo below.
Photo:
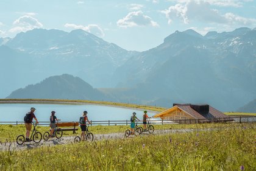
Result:
{"type": "Polygon", "coordinates": [[[256,170],[254,123],[191,126],[214,129],[0,152],[0,170],[256,170]]]}

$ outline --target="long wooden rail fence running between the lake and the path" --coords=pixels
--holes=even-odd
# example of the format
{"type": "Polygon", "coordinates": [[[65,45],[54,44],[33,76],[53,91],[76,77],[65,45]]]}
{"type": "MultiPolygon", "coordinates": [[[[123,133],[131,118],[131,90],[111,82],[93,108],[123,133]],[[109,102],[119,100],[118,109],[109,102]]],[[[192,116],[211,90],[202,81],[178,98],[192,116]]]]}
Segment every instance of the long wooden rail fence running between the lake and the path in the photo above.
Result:
{"type": "MultiPolygon", "coordinates": [[[[130,120],[91,120],[91,125],[129,125],[130,120]]],[[[236,116],[213,119],[177,119],[177,120],[150,120],[151,124],[203,124],[203,123],[243,123],[256,122],[256,116],[236,116]]],[[[63,123],[63,122],[62,122],[63,123]]],[[[139,123],[142,124],[140,121],[139,123]]],[[[0,122],[0,124],[18,125],[21,121],[0,122]]],[[[39,122],[39,125],[49,125],[50,122],[39,122]]]]}

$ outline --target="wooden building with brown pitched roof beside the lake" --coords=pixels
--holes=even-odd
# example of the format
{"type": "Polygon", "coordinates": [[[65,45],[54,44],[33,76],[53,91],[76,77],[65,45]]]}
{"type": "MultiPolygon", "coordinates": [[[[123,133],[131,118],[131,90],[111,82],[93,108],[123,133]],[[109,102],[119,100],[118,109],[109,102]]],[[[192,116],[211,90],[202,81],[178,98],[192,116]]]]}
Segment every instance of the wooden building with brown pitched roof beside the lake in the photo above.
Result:
{"type": "Polygon", "coordinates": [[[227,117],[226,114],[216,110],[210,105],[191,103],[174,103],[172,108],[155,114],[153,117],[161,117],[163,120],[187,120],[187,119],[215,119],[227,117]]]}

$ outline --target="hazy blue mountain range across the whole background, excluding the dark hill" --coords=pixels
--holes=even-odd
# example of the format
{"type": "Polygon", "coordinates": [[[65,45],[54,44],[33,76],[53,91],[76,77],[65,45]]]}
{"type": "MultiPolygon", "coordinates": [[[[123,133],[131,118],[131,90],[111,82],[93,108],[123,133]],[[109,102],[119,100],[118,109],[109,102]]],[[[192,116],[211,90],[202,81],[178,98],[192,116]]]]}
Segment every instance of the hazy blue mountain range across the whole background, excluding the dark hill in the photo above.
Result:
{"type": "MultiPolygon", "coordinates": [[[[256,97],[256,29],[204,36],[191,29],[176,31],[144,52],[126,51],[84,30],[34,29],[2,38],[0,44],[1,88],[6,90],[0,97],[25,98],[18,90],[11,92],[63,73],[98,88],[101,99],[117,102],[209,103],[235,111],[256,97]]],[[[65,91],[56,98],[74,93],[65,91]]]]}

